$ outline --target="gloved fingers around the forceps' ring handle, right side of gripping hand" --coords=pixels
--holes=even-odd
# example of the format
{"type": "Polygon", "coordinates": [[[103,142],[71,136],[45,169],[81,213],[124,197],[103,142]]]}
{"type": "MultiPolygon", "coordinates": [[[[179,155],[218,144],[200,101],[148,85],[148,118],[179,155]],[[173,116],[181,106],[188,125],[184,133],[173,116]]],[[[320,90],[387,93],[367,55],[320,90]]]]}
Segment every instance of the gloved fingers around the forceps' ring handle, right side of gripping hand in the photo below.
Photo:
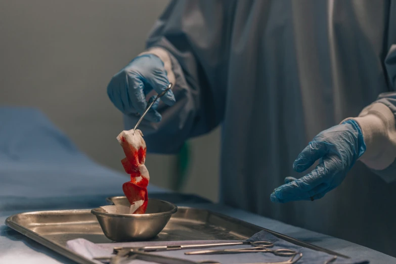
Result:
{"type": "MultiPolygon", "coordinates": [[[[166,71],[164,68],[154,68],[153,70],[153,77],[148,79],[148,83],[154,89],[157,94],[161,94],[165,89],[167,89],[169,85],[169,80],[166,75],[166,71]]],[[[174,98],[173,92],[168,90],[166,94],[161,97],[162,102],[165,104],[172,106],[176,102],[174,98]]]]}

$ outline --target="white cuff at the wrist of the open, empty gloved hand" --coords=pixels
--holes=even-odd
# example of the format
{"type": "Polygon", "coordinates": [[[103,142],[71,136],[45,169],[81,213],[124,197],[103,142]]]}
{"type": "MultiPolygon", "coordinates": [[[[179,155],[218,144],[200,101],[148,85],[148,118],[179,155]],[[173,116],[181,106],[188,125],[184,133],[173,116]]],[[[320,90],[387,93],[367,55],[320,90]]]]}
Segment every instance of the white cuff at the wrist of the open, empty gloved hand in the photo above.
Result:
{"type": "Polygon", "coordinates": [[[366,152],[360,160],[369,168],[382,170],[396,158],[396,122],[392,111],[382,103],[364,108],[355,118],[363,134],[366,152]]]}

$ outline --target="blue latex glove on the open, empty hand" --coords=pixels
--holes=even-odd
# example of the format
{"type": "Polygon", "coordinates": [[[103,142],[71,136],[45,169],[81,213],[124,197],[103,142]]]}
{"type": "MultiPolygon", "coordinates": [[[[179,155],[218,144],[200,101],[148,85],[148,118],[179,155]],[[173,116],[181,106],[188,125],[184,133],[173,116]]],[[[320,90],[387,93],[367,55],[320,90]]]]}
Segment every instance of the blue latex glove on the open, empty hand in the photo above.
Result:
{"type": "Polygon", "coordinates": [[[271,194],[271,201],[286,203],[322,198],[341,184],[365,151],[362,130],[355,120],[322,131],[298,155],[293,169],[302,172],[320,159],[319,165],[298,180],[286,177],[285,184],[271,194]]]}

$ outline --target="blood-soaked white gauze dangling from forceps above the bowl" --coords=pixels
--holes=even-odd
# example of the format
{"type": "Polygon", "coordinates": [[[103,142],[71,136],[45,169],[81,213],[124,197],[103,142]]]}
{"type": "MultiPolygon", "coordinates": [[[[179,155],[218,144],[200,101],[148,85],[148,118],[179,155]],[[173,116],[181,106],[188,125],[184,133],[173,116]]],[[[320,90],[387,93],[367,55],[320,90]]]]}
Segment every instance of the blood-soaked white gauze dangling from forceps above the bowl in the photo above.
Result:
{"type": "Polygon", "coordinates": [[[130,174],[130,181],[122,185],[122,191],[131,205],[139,206],[133,213],[146,212],[150,175],[144,162],[146,160],[146,143],[143,140],[142,131],[124,130],[117,137],[125,158],[121,160],[125,172],[130,174]]]}

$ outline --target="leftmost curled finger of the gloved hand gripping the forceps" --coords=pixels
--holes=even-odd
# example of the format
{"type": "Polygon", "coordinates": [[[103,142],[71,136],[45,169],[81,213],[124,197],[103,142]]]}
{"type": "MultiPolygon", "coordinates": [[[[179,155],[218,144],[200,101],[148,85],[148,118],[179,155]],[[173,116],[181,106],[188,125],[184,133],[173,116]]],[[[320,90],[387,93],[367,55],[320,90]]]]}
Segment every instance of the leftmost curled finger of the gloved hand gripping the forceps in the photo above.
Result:
{"type": "Polygon", "coordinates": [[[133,73],[125,73],[125,95],[129,104],[140,114],[143,114],[147,107],[146,96],[144,93],[144,83],[141,77],[133,73]]]}

